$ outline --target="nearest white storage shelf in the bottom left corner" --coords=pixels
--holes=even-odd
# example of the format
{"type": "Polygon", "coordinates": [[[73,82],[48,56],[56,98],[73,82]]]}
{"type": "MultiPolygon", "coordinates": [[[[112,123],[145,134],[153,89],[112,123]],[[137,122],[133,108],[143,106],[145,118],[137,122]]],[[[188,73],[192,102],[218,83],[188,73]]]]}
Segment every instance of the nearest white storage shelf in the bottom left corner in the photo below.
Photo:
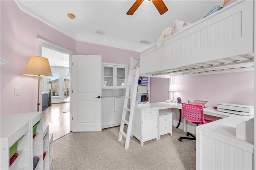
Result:
{"type": "Polygon", "coordinates": [[[1,169],[32,169],[30,157],[30,123],[29,121],[20,121],[15,123],[1,123],[1,169]],[[23,137],[22,137],[23,136],[23,137]],[[21,138],[22,137],[22,138],[21,138]],[[21,139],[20,139],[21,138],[21,139]],[[20,139],[20,141],[18,141],[20,139]],[[9,148],[18,141],[16,153],[18,157],[10,166],[9,148]]]}

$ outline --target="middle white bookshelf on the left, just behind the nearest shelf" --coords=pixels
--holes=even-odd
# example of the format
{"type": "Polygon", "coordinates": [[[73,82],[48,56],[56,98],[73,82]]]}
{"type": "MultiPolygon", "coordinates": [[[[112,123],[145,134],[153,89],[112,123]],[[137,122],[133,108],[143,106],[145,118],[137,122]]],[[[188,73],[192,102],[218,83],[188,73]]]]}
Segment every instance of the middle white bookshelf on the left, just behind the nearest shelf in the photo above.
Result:
{"type": "MultiPolygon", "coordinates": [[[[29,122],[29,133],[30,138],[28,138],[28,143],[30,143],[30,155],[26,156],[26,160],[30,162],[29,167],[32,168],[24,168],[24,169],[33,169],[33,157],[38,156],[40,160],[36,166],[37,170],[43,170],[43,125],[42,125],[42,112],[31,112],[31,113],[17,113],[17,114],[9,114],[9,115],[1,115],[1,124],[2,123],[20,123],[21,121],[29,122]],[[33,139],[33,126],[36,123],[40,123],[37,125],[36,129],[36,137],[33,139]]],[[[1,153],[2,154],[2,153],[1,153]]],[[[1,159],[2,161],[2,159],[1,159]]],[[[8,160],[9,162],[9,160],[8,160]]],[[[22,169],[22,168],[21,168],[22,169]]]]}

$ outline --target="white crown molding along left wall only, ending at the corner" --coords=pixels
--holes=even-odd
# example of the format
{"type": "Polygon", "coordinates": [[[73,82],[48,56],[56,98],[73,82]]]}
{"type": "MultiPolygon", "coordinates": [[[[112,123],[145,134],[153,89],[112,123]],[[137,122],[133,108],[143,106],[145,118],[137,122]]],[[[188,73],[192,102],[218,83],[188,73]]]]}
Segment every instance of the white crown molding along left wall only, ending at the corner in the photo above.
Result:
{"type": "Polygon", "coordinates": [[[64,33],[65,35],[67,35],[68,37],[70,37],[72,39],[76,38],[75,33],[73,33],[72,31],[65,30],[64,27],[61,27],[58,23],[56,23],[53,20],[50,20],[50,18],[47,18],[46,16],[44,16],[40,12],[34,10],[33,8],[30,8],[23,1],[14,0],[14,2],[17,4],[17,6],[20,8],[20,10],[22,10],[26,14],[36,18],[39,21],[42,21],[46,25],[49,25],[50,27],[56,29],[57,31],[60,31],[61,33],[64,33]]]}

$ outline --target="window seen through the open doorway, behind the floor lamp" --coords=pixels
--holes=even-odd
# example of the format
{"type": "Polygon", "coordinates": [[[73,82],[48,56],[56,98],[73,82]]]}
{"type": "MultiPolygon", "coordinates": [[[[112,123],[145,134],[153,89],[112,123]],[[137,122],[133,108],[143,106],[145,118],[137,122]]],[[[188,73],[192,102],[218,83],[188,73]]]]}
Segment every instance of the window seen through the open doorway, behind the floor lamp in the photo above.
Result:
{"type": "Polygon", "coordinates": [[[47,90],[52,90],[52,97],[54,96],[59,96],[59,78],[60,78],[60,73],[58,72],[53,72],[52,73],[53,77],[47,77],[47,90]]]}

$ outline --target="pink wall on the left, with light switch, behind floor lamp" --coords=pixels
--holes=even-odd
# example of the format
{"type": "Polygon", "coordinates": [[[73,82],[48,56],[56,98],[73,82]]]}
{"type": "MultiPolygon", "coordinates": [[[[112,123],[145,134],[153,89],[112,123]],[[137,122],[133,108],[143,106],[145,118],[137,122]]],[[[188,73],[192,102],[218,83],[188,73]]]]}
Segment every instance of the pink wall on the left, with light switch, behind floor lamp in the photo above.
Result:
{"type": "Polygon", "coordinates": [[[75,51],[75,40],[22,12],[14,1],[1,1],[1,114],[36,111],[37,78],[22,75],[31,55],[36,55],[36,38],[75,51]],[[11,9],[11,10],[10,10],[11,9]],[[14,87],[21,95],[14,96],[14,87]]]}

